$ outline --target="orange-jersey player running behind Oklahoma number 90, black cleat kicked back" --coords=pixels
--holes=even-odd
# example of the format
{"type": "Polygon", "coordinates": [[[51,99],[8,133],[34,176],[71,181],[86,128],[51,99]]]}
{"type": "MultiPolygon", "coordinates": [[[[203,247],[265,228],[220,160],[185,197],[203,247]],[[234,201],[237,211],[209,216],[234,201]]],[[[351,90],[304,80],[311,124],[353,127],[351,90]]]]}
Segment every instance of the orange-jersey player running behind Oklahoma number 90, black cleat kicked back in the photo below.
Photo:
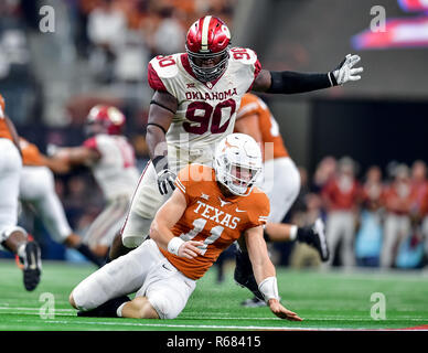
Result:
{"type": "MultiPolygon", "coordinates": [[[[321,218],[310,227],[281,223],[300,191],[300,173],[290,158],[279,132],[279,127],[270,109],[259,97],[247,93],[240,100],[236,115],[235,132],[252,136],[260,146],[264,158],[264,180],[261,190],[270,201],[270,214],[265,226],[266,242],[298,242],[314,246],[323,261],[329,258],[329,249],[321,218]]],[[[244,301],[244,306],[265,304],[263,296],[257,291],[248,254],[240,248],[236,252],[235,280],[252,287],[257,293],[253,299],[244,301]]]]}

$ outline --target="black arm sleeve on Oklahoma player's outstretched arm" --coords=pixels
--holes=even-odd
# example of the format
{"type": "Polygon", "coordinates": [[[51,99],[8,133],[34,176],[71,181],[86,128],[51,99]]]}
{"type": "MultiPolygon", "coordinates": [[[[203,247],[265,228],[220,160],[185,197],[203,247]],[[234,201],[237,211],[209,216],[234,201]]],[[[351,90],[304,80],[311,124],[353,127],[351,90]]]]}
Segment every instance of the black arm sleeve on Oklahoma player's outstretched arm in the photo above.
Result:
{"type": "MultiPolygon", "coordinates": [[[[270,72],[271,84],[267,93],[296,94],[332,86],[329,74],[297,73],[290,71],[270,72]]],[[[331,75],[334,77],[334,75],[331,75]]],[[[335,81],[335,79],[334,79],[335,81]]]]}

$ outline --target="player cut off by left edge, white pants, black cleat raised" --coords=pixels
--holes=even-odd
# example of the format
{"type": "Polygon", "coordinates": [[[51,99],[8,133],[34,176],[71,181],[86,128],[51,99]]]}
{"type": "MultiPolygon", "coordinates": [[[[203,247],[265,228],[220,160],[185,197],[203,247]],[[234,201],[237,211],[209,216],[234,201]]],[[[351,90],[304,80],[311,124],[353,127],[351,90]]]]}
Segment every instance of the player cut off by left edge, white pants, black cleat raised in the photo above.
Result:
{"type": "Polygon", "coordinates": [[[29,240],[26,231],[17,226],[18,195],[22,170],[19,137],[6,116],[4,99],[0,95],[0,249],[19,256],[24,287],[34,290],[42,274],[41,252],[36,242],[29,240]]]}

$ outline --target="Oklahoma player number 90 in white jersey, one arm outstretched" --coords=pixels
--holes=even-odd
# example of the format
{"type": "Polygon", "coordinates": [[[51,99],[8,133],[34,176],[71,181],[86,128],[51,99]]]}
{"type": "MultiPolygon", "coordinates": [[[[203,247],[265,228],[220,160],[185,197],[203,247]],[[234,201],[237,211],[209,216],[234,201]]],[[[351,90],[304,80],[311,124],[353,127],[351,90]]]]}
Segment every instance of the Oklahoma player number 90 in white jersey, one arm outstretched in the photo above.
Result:
{"type": "Polygon", "coordinates": [[[261,69],[250,49],[231,47],[231,33],[218,18],[205,15],[186,35],[185,53],[157,56],[148,65],[154,89],[149,110],[146,167],[110,258],[139,246],[156,212],[174,189],[176,171],[188,163],[211,165],[215,145],[234,129],[242,96],[249,90],[293,94],[357,81],[357,55],[346,55],[328,73],[261,69]]]}

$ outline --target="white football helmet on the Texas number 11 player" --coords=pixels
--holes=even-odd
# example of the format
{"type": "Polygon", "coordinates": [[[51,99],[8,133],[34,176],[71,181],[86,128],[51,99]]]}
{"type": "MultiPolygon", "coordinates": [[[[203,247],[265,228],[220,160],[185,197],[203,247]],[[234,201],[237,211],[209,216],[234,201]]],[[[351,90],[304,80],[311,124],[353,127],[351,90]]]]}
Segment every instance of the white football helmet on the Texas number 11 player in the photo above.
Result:
{"type": "Polygon", "coordinates": [[[233,194],[247,196],[263,172],[261,150],[250,136],[232,133],[215,149],[214,170],[233,194]]]}

